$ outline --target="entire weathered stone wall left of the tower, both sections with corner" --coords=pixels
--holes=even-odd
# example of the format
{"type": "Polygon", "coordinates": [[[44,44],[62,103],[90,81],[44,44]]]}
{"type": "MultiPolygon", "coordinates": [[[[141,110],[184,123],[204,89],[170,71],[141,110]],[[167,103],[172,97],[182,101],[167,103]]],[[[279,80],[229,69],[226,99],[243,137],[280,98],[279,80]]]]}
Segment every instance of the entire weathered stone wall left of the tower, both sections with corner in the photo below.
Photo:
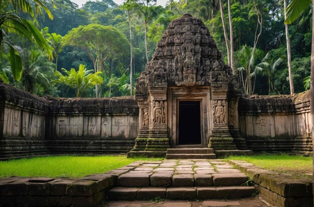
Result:
{"type": "Polygon", "coordinates": [[[0,83],[0,159],[128,152],[138,134],[134,98],[40,98],[0,83]]]}

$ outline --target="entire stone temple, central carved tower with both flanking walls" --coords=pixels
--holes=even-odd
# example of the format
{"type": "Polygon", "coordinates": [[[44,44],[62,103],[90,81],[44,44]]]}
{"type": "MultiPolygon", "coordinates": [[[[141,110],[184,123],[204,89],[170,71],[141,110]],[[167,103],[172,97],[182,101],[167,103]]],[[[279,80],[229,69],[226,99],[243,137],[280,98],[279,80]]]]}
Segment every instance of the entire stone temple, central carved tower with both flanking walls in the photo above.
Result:
{"type": "Polygon", "coordinates": [[[173,148],[309,155],[309,117],[308,92],[245,96],[206,26],[185,14],[163,34],[135,97],[37,97],[0,83],[0,159],[173,148]]]}

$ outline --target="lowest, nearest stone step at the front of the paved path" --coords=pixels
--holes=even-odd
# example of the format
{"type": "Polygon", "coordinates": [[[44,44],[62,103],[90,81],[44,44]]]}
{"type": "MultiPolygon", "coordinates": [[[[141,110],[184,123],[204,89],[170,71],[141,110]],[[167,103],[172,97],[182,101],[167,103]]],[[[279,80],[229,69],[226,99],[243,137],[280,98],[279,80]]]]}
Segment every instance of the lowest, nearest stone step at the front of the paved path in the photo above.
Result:
{"type": "Polygon", "coordinates": [[[108,192],[111,200],[161,199],[232,199],[249,197],[256,193],[252,186],[220,187],[114,187],[108,192]]]}

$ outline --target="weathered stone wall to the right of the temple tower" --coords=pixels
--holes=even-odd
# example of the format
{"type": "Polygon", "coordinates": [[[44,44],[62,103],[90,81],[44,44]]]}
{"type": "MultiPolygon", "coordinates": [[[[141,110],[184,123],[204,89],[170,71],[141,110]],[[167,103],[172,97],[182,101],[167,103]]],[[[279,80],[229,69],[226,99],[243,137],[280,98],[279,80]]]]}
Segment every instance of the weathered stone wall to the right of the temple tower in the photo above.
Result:
{"type": "Polygon", "coordinates": [[[240,131],[254,151],[311,154],[309,117],[309,92],[239,100],[240,131]]]}

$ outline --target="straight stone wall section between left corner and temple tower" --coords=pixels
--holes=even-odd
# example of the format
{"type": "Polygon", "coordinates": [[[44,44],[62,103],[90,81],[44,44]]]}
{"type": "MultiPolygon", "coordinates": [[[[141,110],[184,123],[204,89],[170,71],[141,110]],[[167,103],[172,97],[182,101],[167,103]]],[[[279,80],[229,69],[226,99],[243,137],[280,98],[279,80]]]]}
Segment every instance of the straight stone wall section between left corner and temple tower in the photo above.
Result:
{"type": "Polygon", "coordinates": [[[132,96],[58,98],[49,104],[46,137],[53,153],[119,153],[134,146],[138,107],[132,96]]]}

